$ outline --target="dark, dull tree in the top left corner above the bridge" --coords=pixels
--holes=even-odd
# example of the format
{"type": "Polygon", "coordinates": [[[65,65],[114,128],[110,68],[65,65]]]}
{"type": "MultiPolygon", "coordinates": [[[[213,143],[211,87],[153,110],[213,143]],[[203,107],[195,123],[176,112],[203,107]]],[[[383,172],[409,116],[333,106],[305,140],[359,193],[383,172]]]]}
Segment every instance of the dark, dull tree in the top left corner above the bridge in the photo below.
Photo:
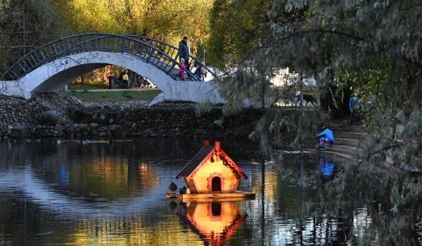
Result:
{"type": "Polygon", "coordinates": [[[68,33],[62,20],[51,0],[0,1],[0,74],[37,46],[68,33]]]}

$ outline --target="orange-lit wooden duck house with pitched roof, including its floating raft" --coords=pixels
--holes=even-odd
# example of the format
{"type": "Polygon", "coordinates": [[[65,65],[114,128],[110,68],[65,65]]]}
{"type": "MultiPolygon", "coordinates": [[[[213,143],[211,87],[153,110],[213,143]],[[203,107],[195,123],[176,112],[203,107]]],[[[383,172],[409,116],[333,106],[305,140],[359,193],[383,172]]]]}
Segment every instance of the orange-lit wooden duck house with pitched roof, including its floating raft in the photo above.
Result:
{"type": "Polygon", "coordinates": [[[186,164],[176,178],[183,177],[191,194],[167,193],[167,198],[181,200],[242,200],[255,198],[254,193],[236,190],[241,178],[248,179],[231,158],[220,148],[220,143],[204,147],[186,164]]]}

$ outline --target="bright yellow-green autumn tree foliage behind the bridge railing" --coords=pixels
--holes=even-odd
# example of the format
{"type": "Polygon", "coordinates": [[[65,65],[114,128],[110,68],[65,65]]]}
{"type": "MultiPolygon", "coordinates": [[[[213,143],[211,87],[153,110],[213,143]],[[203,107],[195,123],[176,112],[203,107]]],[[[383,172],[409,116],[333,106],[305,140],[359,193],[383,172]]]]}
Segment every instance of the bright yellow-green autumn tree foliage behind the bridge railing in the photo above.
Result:
{"type": "Polygon", "coordinates": [[[77,33],[107,32],[152,37],[177,45],[188,36],[193,50],[207,39],[212,1],[54,0],[77,33]]]}

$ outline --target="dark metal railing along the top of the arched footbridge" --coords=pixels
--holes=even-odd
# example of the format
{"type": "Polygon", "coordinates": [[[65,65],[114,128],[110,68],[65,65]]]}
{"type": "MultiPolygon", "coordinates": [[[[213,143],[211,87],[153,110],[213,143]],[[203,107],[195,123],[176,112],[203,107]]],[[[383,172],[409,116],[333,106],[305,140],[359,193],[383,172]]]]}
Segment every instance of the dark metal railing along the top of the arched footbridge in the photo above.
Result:
{"type": "MultiPolygon", "coordinates": [[[[178,48],[158,39],[136,35],[119,34],[77,34],[63,39],[52,41],[41,46],[13,64],[3,75],[2,80],[17,80],[27,75],[41,65],[53,60],[65,58],[77,53],[105,51],[113,53],[127,53],[144,60],[146,63],[164,71],[177,80],[176,65],[178,48]]],[[[191,56],[196,63],[203,65],[191,56]]],[[[205,65],[203,65],[209,72],[205,65]]],[[[200,80],[190,70],[185,69],[193,80],[200,80]]]]}

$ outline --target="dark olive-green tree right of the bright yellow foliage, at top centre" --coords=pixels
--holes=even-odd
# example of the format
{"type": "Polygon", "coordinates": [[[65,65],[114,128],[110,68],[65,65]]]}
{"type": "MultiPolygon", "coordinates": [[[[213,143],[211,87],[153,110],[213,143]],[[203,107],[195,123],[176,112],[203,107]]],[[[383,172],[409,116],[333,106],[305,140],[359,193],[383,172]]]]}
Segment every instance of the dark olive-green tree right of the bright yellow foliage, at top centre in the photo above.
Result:
{"type": "Polygon", "coordinates": [[[234,60],[243,60],[245,54],[266,37],[272,0],[231,1],[216,0],[210,14],[208,59],[213,66],[223,68],[234,60]]]}

